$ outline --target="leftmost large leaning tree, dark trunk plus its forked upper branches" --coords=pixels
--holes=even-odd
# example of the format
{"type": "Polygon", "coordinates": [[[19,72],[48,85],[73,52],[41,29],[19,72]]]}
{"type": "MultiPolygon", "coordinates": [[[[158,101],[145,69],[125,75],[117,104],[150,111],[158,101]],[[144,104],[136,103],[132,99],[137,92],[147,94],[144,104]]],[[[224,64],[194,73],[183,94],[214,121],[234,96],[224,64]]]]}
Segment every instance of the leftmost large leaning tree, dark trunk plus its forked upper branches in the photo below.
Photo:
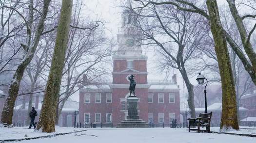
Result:
{"type": "MultiPolygon", "coordinates": [[[[22,46],[22,48],[24,49],[25,55],[15,71],[12,83],[9,87],[8,97],[4,103],[4,107],[2,110],[1,122],[4,124],[7,124],[7,125],[12,124],[13,108],[14,108],[14,103],[15,103],[15,100],[16,100],[18,92],[19,92],[20,81],[23,77],[25,68],[33,59],[35,50],[38,46],[40,36],[43,32],[43,23],[45,21],[45,18],[46,18],[47,12],[48,12],[49,3],[50,3],[50,0],[44,0],[44,2],[43,2],[42,12],[41,12],[39,23],[35,30],[35,35],[34,35],[33,39],[32,39],[32,35],[31,35],[31,30],[32,30],[31,27],[32,27],[32,21],[33,21],[33,10],[34,10],[33,9],[33,0],[29,1],[29,16],[28,16],[27,20],[16,9],[11,8],[14,11],[16,11],[17,13],[19,13],[19,15],[25,21],[27,35],[26,35],[26,43],[20,44],[22,46]],[[32,44],[31,44],[31,41],[33,42],[32,44]]],[[[2,6],[1,8],[4,8],[4,7],[6,7],[6,6],[2,6]]]]}

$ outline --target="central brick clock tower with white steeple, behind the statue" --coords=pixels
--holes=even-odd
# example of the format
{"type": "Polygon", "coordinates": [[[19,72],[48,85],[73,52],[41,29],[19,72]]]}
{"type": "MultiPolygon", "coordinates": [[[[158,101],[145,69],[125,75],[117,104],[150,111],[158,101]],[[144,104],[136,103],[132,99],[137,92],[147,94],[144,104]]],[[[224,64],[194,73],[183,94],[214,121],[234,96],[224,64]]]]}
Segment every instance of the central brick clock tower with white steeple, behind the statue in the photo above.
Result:
{"type": "Polygon", "coordinates": [[[148,88],[147,83],[147,59],[142,54],[141,32],[136,27],[137,16],[132,11],[122,13],[122,26],[118,29],[118,52],[113,59],[113,83],[110,85],[113,94],[113,122],[120,123],[128,114],[127,97],[129,92],[129,80],[127,77],[135,75],[137,82],[135,95],[139,98],[138,115],[148,120],[148,88]],[[140,105],[143,103],[143,105],[140,105]],[[117,115],[114,115],[114,112],[117,115]]]}

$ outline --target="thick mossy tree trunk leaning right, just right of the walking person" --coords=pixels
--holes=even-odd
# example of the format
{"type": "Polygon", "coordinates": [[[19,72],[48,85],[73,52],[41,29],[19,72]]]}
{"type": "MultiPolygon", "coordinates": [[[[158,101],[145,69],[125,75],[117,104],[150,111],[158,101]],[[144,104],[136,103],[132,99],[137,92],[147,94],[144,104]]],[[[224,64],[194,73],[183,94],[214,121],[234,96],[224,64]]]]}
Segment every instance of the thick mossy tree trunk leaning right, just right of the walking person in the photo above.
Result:
{"type": "Polygon", "coordinates": [[[62,0],[56,44],[37,127],[41,128],[42,132],[55,131],[56,108],[67,50],[72,4],[73,0],[62,0]]]}

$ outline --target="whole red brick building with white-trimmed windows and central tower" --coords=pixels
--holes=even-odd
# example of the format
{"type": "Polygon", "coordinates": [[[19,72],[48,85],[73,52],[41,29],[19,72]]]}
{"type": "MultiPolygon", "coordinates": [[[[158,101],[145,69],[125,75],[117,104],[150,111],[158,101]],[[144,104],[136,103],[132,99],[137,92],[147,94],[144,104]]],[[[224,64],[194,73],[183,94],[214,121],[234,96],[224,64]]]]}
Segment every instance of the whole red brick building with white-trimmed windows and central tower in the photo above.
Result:
{"type": "Polygon", "coordinates": [[[101,85],[89,85],[79,90],[79,121],[82,123],[113,123],[117,125],[128,114],[129,80],[135,75],[135,94],[139,98],[138,114],[148,122],[179,122],[179,87],[177,76],[171,80],[148,80],[147,59],[142,54],[140,32],[134,26],[128,11],[122,14],[122,27],[118,30],[118,52],[112,57],[112,80],[101,85]]]}

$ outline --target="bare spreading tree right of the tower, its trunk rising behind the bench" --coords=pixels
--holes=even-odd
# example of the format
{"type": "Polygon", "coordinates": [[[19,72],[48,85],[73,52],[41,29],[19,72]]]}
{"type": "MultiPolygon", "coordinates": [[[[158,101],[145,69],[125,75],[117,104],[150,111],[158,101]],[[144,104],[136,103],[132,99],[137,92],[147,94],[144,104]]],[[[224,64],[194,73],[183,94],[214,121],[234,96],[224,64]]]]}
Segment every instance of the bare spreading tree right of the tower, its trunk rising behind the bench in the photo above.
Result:
{"type": "MultiPolygon", "coordinates": [[[[143,6],[143,5],[142,5],[143,6]]],[[[157,46],[163,57],[162,68],[177,69],[188,89],[188,105],[191,117],[195,117],[194,85],[189,80],[191,60],[198,58],[197,46],[202,39],[201,25],[198,16],[186,11],[179,11],[172,5],[148,5],[137,12],[137,25],[143,35],[143,43],[157,46]]]]}

